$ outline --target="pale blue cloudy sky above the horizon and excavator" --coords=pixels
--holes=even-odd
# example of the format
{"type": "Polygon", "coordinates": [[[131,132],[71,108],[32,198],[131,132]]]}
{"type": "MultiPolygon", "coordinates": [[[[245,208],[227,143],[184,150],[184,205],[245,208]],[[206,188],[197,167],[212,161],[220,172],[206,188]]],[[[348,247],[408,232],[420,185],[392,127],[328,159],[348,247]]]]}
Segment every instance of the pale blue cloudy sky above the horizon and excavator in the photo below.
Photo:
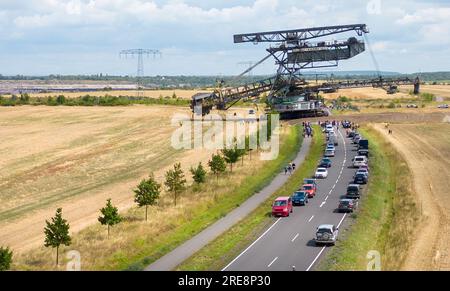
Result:
{"type": "MultiPolygon", "coordinates": [[[[381,70],[450,71],[449,0],[0,0],[0,74],[135,75],[129,48],[163,52],[146,75],[238,74],[266,44],[233,34],[351,23],[369,26],[381,70]]],[[[366,52],[339,69],[375,65],[366,52]]]]}

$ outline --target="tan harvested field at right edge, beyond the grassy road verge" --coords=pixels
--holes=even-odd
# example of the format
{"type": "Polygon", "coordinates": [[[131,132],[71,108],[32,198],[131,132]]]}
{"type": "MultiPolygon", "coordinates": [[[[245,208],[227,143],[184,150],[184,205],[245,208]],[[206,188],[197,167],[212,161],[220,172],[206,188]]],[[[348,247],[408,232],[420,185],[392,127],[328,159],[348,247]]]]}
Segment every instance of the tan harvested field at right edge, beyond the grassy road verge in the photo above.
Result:
{"type": "Polygon", "coordinates": [[[423,214],[403,269],[450,270],[450,124],[396,124],[393,135],[375,128],[405,157],[423,214]]]}

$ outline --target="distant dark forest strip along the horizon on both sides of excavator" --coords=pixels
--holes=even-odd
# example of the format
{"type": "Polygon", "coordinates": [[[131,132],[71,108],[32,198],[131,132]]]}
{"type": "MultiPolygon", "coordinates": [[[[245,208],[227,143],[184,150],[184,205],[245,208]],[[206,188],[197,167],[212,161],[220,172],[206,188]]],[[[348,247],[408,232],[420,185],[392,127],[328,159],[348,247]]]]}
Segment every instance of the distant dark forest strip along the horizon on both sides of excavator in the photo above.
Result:
{"type": "MultiPolygon", "coordinates": [[[[387,78],[393,77],[410,77],[419,76],[424,82],[450,82],[450,72],[430,72],[415,74],[400,74],[395,72],[381,72],[381,75],[387,78]]],[[[313,74],[305,74],[307,80],[344,80],[344,79],[373,79],[378,76],[375,71],[349,71],[349,72],[319,72],[313,74]]],[[[257,82],[271,76],[244,76],[236,78],[234,76],[154,76],[143,77],[139,82],[145,87],[151,88],[210,88],[223,81],[227,86],[239,86],[252,82],[257,82]]],[[[3,76],[0,80],[6,81],[95,81],[109,83],[137,83],[138,79],[133,76],[109,76],[109,75],[49,75],[49,76],[3,76]]]]}

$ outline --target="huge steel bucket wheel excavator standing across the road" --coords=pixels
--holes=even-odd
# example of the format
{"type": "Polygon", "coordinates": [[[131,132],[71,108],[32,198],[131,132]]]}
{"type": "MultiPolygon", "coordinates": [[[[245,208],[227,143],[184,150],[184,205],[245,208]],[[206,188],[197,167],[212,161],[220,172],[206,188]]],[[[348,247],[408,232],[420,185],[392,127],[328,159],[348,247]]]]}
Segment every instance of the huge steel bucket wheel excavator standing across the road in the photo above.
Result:
{"type": "Polygon", "coordinates": [[[391,78],[381,76],[371,80],[325,82],[309,85],[302,77],[307,69],[337,67],[339,61],[348,60],[366,50],[364,39],[369,30],[365,24],[316,27],[298,30],[238,34],[234,43],[269,43],[268,55],[247,69],[240,78],[268,59],[275,59],[278,66],[274,77],[240,87],[221,87],[214,92],[200,93],[192,97],[194,114],[208,115],[214,108],[228,110],[241,100],[252,100],[267,94],[270,110],[284,119],[326,116],[328,109],[319,94],[336,92],[339,89],[374,87],[385,89],[389,94],[397,92],[400,85],[414,85],[414,93],[420,91],[420,80],[416,78],[391,78]],[[344,33],[355,33],[346,40],[327,42],[323,39],[344,33]],[[359,37],[359,39],[357,38],[359,37]]]}

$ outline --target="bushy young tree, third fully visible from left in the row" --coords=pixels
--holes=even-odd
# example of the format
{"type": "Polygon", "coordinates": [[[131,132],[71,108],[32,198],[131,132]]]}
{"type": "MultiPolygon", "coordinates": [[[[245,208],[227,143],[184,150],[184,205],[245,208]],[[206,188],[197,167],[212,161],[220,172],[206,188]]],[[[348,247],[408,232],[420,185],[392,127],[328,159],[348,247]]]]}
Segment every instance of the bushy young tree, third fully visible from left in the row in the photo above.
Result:
{"type": "Polygon", "coordinates": [[[147,221],[148,207],[156,205],[161,194],[161,185],[156,182],[153,174],[147,180],[142,180],[134,191],[134,202],[139,207],[145,206],[145,221],[147,221]]]}

